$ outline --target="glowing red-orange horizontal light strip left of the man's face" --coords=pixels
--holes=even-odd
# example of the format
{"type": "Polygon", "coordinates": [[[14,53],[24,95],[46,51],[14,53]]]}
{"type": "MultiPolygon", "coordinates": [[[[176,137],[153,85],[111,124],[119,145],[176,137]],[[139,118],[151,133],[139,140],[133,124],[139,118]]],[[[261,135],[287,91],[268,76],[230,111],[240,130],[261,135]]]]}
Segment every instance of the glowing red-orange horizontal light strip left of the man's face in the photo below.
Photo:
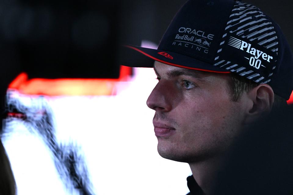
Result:
{"type": "Polygon", "coordinates": [[[22,94],[48,96],[60,95],[115,95],[116,84],[128,81],[131,68],[120,66],[118,79],[42,79],[28,80],[27,73],[20,73],[9,85],[22,94]]]}

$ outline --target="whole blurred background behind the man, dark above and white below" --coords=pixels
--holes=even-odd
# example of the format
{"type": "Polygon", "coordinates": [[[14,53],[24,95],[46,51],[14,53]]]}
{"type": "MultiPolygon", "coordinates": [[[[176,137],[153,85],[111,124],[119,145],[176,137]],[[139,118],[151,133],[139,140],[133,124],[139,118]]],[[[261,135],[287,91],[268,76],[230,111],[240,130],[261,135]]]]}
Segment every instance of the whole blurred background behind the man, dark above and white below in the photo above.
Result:
{"type": "MultiPolygon", "coordinates": [[[[121,44],[156,48],[185,2],[0,0],[2,141],[18,194],[188,192],[188,165],[157,154],[153,70],[118,63],[121,44]]],[[[245,2],[293,48],[292,1],[245,2]]]]}

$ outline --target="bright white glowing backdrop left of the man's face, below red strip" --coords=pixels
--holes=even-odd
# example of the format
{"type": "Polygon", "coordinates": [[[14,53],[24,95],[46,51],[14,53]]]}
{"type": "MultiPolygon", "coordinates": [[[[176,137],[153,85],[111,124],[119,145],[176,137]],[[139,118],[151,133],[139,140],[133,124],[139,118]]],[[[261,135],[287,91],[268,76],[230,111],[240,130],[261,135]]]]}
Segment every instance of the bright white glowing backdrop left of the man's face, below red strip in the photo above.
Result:
{"type": "MultiPolygon", "coordinates": [[[[156,75],[148,68],[136,68],[134,75],[131,82],[118,84],[116,96],[44,97],[54,116],[56,139],[80,146],[95,194],[186,194],[189,166],[157,153],[154,111],[146,105],[156,75]]],[[[27,106],[38,100],[17,98],[27,106]]],[[[18,194],[72,194],[64,188],[48,147],[30,133],[32,127],[19,119],[8,124],[6,131],[13,131],[4,145],[18,194]]]]}

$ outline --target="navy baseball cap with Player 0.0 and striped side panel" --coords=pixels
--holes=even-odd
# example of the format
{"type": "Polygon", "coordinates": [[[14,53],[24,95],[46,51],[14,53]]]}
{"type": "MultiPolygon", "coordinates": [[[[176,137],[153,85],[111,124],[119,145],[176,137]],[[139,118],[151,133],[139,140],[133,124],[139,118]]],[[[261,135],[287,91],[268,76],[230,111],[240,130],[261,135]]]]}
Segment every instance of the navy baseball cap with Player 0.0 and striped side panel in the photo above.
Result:
{"type": "Polygon", "coordinates": [[[288,100],[293,55],[280,27],[254,5],[235,0],[189,0],[177,12],[158,49],[125,45],[121,65],[171,66],[236,73],[269,84],[288,100]]]}

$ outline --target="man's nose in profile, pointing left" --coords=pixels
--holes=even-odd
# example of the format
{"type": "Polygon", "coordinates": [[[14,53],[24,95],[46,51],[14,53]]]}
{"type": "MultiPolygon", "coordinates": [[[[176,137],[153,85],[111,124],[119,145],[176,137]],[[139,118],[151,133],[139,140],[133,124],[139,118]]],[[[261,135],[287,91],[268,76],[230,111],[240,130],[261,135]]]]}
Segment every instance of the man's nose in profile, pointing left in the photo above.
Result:
{"type": "Polygon", "coordinates": [[[171,100],[174,94],[172,95],[171,87],[165,84],[163,81],[159,81],[147,98],[147,106],[156,112],[172,110],[171,100]]]}

